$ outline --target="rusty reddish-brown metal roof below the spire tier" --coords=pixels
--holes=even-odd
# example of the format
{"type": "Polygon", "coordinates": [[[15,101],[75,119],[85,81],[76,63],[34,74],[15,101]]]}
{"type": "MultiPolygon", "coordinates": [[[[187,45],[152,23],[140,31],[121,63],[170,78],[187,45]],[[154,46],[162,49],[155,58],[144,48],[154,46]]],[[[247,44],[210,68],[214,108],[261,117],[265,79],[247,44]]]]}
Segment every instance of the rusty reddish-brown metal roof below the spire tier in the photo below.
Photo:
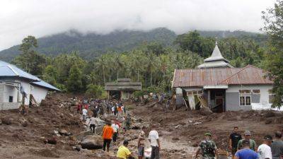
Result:
{"type": "Polygon", "coordinates": [[[244,68],[176,69],[173,88],[202,87],[218,84],[272,84],[267,71],[248,65],[244,68]]]}

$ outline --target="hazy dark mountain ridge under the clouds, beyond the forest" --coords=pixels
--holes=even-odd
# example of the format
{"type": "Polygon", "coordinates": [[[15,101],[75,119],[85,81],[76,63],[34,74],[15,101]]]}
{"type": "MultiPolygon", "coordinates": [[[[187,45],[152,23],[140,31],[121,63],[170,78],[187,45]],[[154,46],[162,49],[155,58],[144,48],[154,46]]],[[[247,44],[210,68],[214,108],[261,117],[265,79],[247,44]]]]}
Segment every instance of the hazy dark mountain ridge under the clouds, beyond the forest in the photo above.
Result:
{"type": "MultiPolygon", "coordinates": [[[[79,51],[84,59],[93,59],[105,52],[125,52],[138,47],[141,43],[159,42],[164,46],[172,45],[175,33],[166,28],[156,28],[149,31],[122,30],[100,35],[96,33],[79,33],[70,30],[37,39],[37,52],[48,56],[79,51]]],[[[4,49],[0,52],[0,59],[11,61],[20,54],[20,45],[4,49]]]]}

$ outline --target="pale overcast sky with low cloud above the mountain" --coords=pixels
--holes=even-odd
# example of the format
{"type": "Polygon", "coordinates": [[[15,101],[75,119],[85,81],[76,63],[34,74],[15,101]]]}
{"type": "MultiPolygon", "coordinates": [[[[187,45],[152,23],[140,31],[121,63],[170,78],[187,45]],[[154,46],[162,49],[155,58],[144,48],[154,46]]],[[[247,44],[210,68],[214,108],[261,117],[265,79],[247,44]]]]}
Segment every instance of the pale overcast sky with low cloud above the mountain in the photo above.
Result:
{"type": "Polygon", "coordinates": [[[1,0],[0,50],[27,35],[76,29],[83,33],[150,30],[247,30],[259,32],[261,11],[275,0],[1,0]]]}

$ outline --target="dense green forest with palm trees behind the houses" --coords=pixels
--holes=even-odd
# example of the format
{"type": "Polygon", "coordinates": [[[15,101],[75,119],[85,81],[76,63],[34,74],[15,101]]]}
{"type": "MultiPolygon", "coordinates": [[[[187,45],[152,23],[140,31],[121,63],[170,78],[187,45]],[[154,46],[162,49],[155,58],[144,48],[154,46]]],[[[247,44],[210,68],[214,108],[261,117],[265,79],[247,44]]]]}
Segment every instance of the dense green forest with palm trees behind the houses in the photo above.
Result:
{"type": "Polygon", "coordinates": [[[83,57],[76,49],[47,56],[38,51],[40,42],[28,36],[18,47],[21,54],[12,62],[72,93],[86,92],[98,97],[103,95],[105,83],[117,78],[141,81],[145,91],[168,91],[171,90],[174,69],[195,68],[202,64],[203,59],[212,54],[215,37],[219,37],[219,49],[232,66],[252,64],[270,71],[268,78],[275,81],[274,104],[278,106],[283,104],[283,32],[280,27],[283,24],[283,1],[277,1],[274,8],[263,12],[262,18],[265,20],[262,30],[266,35],[244,32],[235,35],[227,31],[212,34],[195,30],[177,36],[173,34],[172,39],[163,39],[163,42],[139,42],[127,50],[108,51],[91,58],[83,57]]]}

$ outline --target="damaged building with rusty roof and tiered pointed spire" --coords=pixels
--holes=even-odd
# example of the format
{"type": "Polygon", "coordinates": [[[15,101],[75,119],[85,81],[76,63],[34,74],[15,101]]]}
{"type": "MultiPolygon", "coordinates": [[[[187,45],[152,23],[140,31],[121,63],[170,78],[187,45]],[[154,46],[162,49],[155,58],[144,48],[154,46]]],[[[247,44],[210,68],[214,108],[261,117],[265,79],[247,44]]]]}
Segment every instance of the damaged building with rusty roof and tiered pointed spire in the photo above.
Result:
{"type": "Polygon", "coordinates": [[[213,112],[271,109],[273,82],[267,73],[252,65],[233,68],[216,42],[212,56],[197,69],[175,69],[172,87],[191,110],[196,105],[213,112]]]}

